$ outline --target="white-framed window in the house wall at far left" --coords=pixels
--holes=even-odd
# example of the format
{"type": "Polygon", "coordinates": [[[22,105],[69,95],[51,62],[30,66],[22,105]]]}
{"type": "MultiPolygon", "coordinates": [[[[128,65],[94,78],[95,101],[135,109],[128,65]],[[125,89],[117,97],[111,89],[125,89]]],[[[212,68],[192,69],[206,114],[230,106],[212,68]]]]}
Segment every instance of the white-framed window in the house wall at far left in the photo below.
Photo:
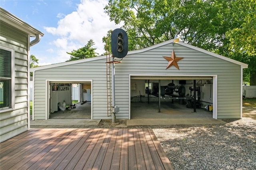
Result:
{"type": "Polygon", "coordinates": [[[0,111],[14,106],[13,53],[14,50],[0,46],[0,111]]]}

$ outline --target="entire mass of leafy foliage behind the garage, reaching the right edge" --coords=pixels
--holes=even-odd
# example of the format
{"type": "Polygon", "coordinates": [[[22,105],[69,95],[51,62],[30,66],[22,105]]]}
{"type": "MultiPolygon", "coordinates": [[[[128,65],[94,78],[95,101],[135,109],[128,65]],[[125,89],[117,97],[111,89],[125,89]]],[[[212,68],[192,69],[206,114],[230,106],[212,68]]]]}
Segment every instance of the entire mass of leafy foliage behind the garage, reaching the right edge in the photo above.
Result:
{"type": "Polygon", "coordinates": [[[247,63],[252,71],[255,4],[255,0],[110,0],[104,9],[111,21],[124,23],[129,50],[178,34],[180,41],[247,63]]]}

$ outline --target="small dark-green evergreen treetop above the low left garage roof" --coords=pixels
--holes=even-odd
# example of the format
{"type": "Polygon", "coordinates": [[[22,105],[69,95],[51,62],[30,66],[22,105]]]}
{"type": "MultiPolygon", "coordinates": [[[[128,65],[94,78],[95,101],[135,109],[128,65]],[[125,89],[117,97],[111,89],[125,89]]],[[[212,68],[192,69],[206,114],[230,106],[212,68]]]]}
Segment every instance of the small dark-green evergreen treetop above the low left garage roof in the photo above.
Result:
{"type": "Polygon", "coordinates": [[[79,48],[77,50],[73,49],[72,52],[66,52],[71,55],[70,59],[67,61],[96,57],[98,53],[95,52],[96,48],[93,48],[93,45],[95,45],[95,43],[91,39],[84,47],[79,48]]]}

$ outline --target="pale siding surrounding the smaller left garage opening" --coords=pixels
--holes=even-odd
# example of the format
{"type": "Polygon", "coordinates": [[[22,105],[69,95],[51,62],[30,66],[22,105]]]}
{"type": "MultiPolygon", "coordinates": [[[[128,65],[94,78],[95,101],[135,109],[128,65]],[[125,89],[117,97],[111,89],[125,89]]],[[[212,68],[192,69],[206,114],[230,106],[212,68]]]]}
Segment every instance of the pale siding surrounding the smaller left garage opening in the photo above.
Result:
{"type": "Polygon", "coordinates": [[[80,80],[81,82],[92,80],[93,113],[96,115],[93,119],[101,119],[101,116],[106,116],[107,98],[105,62],[105,60],[97,60],[36,71],[34,80],[34,119],[46,119],[46,79],[68,79],[69,81],[80,80]],[[98,115],[99,117],[97,117],[98,115]]]}

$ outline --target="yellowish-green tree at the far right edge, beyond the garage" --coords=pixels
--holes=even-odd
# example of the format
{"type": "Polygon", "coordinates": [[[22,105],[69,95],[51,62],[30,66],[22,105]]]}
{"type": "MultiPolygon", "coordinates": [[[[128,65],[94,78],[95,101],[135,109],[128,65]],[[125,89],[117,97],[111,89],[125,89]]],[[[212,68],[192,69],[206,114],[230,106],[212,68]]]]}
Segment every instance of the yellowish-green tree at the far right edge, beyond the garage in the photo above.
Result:
{"type": "Polygon", "coordinates": [[[232,18],[238,26],[226,32],[226,36],[230,40],[230,49],[242,56],[240,61],[248,64],[250,85],[256,85],[256,1],[236,0],[232,5],[232,18]]]}

